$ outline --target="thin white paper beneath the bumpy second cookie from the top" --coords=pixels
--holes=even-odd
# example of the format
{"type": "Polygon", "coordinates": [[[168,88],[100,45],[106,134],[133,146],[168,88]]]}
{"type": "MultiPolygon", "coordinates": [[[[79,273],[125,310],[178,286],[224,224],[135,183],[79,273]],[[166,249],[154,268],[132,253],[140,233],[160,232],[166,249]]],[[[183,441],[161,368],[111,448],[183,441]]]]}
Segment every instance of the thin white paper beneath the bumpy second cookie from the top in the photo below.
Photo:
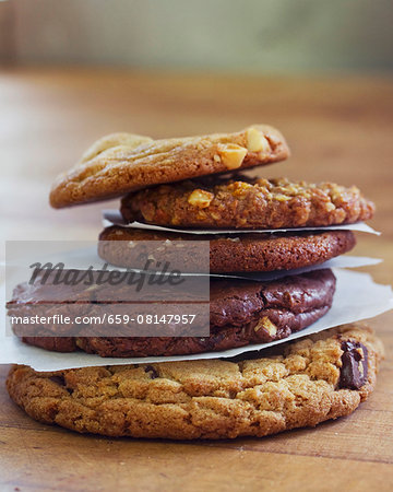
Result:
{"type": "Polygon", "coordinates": [[[175,232],[181,234],[250,234],[250,233],[284,233],[284,232],[295,232],[295,231],[358,231],[369,234],[380,235],[381,233],[373,230],[365,222],[357,222],[356,224],[342,224],[342,225],[325,225],[321,227],[291,227],[291,229],[257,229],[257,230],[201,230],[201,229],[171,229],[163,227],[160,225],[144,224],[142,222],[132,222],[131,224],[126,224],[119,210],[107,209],[103,210],[103,225],[104,227],[109,227],[110,225],[121,225],[122,227],[130,229],[145,229],[148,231],[160,231],[160,232],[175,232]]]}

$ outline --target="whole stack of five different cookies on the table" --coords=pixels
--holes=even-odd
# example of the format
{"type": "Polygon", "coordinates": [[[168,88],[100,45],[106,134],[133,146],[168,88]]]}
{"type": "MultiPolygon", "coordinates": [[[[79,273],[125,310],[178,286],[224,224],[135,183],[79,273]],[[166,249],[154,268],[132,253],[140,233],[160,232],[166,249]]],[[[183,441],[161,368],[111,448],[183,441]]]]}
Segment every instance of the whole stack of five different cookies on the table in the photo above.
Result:
{"type": "MultiPolygon", "coordinates": [[[[355,237],[321,227],[373,214],[373,203],[356,187],[241,174],[288,155],[283,136],[262,125],[170,140],[117,133],[96,142],[58,178],[52,207],[122,197],[121,221],[102,232],[98,245],[100,258],[117,267],[135,267],[134,249],[124,245],[159,242],[155,260],[163,261],[176,258],[179,242],[209,242],[210,335],[51,333],[23,341],[103,358],[216,356],[119,366],[103,361],[102,367],[56,373],[17,366],[8,379],[11,397],[35,419],[112,436],[262,436],[350,413],[372,390],[382,356],[369,329],[342,326],[219,359],[224,350],[285,339],[325,315],[335,277],[321,265],[350,250],[355,237]],[[267,272],[273,280],[263,280],[267,272]]],[[[191,255],[184,270],[196,273],[196,263],[191,255]]],[[[28,309],[32,289],[15,290],[13,315],[28,309]]],[[[44,294],[34,288],[35,302],[44,294]]]]}

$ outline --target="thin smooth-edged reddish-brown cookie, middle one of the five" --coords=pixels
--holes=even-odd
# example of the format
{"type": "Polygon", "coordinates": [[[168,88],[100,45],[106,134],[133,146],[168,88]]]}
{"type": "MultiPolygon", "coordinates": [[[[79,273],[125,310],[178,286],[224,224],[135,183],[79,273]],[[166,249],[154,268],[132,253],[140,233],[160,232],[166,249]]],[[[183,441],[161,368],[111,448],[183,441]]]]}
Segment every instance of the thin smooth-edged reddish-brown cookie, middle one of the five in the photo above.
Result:
{"type": "MultiPolygon", "coordinates": [[[[349,251],[356,244],[352,231],[327,231],[293,234],[239,234],[227,236],[178,234],[138,230],[114,225],[99,235],[98,255],[118,267],[139,268],[130,242],[162,242],[154,256],[157,261],[168,260],[177,268],[176,244],[179,241],[210,241],[210,271],[212,273],[260,272],[290,270],[320,265],[349,251]]],[[[135,244],[135,243],[132,243],[135,244]]],[[[139,251],[139,249],[138,249],[139,251]]],[[[181,257],[181,269],[184,269],[181,257]]],[[[200,271],[198,255],[190,251],[187,271],[200,271]]],[[[186,270],[184,270],[186,271],[186,270]]]]}

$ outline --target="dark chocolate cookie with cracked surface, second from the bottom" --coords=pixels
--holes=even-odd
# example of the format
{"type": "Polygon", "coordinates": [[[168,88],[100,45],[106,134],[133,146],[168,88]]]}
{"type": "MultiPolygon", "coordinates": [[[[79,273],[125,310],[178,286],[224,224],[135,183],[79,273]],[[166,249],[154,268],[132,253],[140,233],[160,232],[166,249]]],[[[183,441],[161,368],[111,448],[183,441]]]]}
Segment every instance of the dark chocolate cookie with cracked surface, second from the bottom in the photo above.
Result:
{"type": "MultiPolygon", "coordinates": [[[[14,298],[8,304],[10,317],[34,316],[40,308],[61,293],[62,285],[32,286],[21,284],[14,292],[14,298]]],[[[250,343],[265,343],[281,340],[290,333],[302,330],[321,318],[332,306],[335,292],[335,277],[331,270],[315,270],[299,276],[288,276],[271,282],[212,280],[210,290],[210,336],[143,336],[143,326],[121,324],[115,328],[119,336],[106,336],[114,326],[91,327],[70,325],[19,325],[13,329],[21,339],[32,345],[59,352],[83,350],[100,356],[131,358],[153,355],[182,355],[222,351],[245,347],[250,343]],[[28,330],[32,331],[28,331],[28,330]],[[83,329],[82,335],[78,330],[83,329]],[[70,331],[71,330],[71,331],[70,331]],[[88,332],[88,336],[86,333],[88,332]],[[27,336],[26,333],[32,333],[27,336]],[[71,335],[71,336],[70,336],[71,335]]],[[[46,316],[53,314],[72,317],[74,305],[83,298],[85,304],[78,305],[90,316],[100,313],[97,296],[99,293],[85,288],[74,303],[64,303],[46,307],[46,316]],[[91,296],[91,303],[86,301],[91,296]]],[[[104,297],[105,298],[105,297],[104,297]]],[[[136,306],[138,307],[138,306],[136,306]]],[[[114,316],[130,311],[122,303],[105,302],[105,312],[114,316]]],[[[179,305],[180,311],[183,309],[179,305]]],[[[150,308],[151,309],[151,308],[150,308]]],[[[84,313],[83,311],[83,313],[84,313]]],[[[146,329],[150,327],[147,326],[146,329]]]]}

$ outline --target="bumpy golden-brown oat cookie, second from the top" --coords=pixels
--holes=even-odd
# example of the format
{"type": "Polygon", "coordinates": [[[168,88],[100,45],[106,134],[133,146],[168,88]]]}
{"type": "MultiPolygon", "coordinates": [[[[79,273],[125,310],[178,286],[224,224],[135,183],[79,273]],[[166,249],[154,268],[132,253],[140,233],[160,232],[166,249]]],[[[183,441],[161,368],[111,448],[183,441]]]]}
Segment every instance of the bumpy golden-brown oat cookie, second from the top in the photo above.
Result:
{"type": "Polygon", "coordinates": [[[358,188],[278,179],[188,180],[130,194],[127,222],[204,229],[281,229],[371,219],[374,204],[358,188]]]}

